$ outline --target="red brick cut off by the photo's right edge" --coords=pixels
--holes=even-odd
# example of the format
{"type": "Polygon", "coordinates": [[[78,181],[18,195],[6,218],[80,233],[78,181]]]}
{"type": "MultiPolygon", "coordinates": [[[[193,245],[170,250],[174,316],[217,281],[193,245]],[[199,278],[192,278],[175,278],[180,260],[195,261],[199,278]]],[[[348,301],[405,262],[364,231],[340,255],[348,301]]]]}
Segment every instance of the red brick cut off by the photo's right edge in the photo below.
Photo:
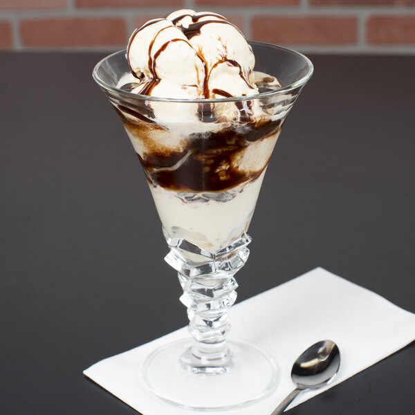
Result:
{"type": "Polygon", "coordinates": [[[367,42],[377,45],[415,44],[415,16],[372,16],[367,42]]]}

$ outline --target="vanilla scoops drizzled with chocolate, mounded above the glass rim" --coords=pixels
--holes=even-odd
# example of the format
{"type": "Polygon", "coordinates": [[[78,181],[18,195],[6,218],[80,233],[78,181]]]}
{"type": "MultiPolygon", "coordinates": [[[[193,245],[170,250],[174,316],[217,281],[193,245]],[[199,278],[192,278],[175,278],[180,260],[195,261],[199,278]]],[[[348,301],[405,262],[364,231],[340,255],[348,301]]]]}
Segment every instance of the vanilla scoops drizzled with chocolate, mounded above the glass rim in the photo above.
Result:
{"type": "MultiPolygon", "coordinates": [[[[252,48],[236,26],[216,13],[177,10],[165,19],[147,21],[131,35],[127,58],[135,78],[129,79],[131,91],[135,93],[197,99],[259,92],[252,48]]],[[[275,78],[266,77],[278,86],[275,78]]],[[[261,115],[259,108],[252,111],[249,107],[255,103],[246,104],[246,108],[229,103],[216,105],[212,116],[217,119],[261,115]]],[[[168,112],[164,104],[152,107],[156,116],[165,117],[168,112]]],[[[194,108],[187,106],[185,113],[194,116],[194,108]]]]}

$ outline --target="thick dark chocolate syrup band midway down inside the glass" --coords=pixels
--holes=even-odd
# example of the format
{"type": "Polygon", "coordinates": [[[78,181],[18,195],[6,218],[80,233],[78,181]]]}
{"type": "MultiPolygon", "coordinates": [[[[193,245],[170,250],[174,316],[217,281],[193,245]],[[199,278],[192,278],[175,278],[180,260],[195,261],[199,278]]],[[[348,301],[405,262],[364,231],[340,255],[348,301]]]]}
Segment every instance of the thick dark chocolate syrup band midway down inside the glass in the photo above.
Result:
{"type": "Polygon", "coordinates": [[[280,120],[269,120],[257,126],[252,123],[215,133],[195,133],[180,154],[154,152],[138,158],[151,185],[174,191],[224,192],[260,176],[265,167],[247,173],[232,166],[232,160],[250,142],[277,133],[280,124],[280,120]],[[183,158],[184,162],[174,168],[183,158]]]}

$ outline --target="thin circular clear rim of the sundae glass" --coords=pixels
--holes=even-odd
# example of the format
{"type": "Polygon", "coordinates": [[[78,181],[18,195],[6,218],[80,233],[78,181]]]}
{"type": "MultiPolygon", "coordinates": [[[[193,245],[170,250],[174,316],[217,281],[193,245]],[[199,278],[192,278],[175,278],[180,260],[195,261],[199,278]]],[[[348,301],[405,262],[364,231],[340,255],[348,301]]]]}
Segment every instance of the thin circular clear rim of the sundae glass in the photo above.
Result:
{"type": "Polygon", "coordinates": [[[271,46],[275,49],[284,50],[286,52],[293,53],[293,55],[296,55],[297,57],[304,59],[304,62],[308,66],[308,71],[306,75],[304,75],[301,79],[293,82],[292,84],[284,86],[283,88],[280,88],[280,89],[276,89],[275,91],[266,91],[266,92],[257,93],[255,95],[243,95],[241,97],[230,97],[230,98],[192,98],[192,99],[153,97],[151,95],[141,95],[139,93],[123,91],[122,89],[117,88],[116,86],[111,86],[107,84],[107,82],[104,82],[104,80],[102,80],[99,77],[98,68],[101,66],[101,64],[112,56],[125,54],[127,50],[123,49],[123,50],[118,50],[117,52],[111,53],[111,55],[107,55],[106,57],[103,57],[102,59],[100,59],[100,61],[93,68],[92,76],[95,82],[97,82],[97,84],[100,85],[103,89],[106,89],[107,91],[119,93],[128,98],[135,98],[135,99],[139,98],[141,100],[154,101],[154,102],[190,102],[190,103],[210,102],[210,103],[214,103],[214,102],[237,102],[237,101],[255,100],[259,98],[268,98],[274,95],[282,95],[284,93],[292,91],[293,89],[298,88],[299,86],[306,84],[306,82],[311,78],[311,75],[313,75],[313,71],[314,71],[313,62],[311,62],[311,60],[308,59],[308,57],[306,57],[302,53],[297,52],[297,50],[285,48],[284,46],[279,46],[279,45],[270,44],[266,42],[249,41],[248,44],[260,45],[260,46],[271,46]]]}

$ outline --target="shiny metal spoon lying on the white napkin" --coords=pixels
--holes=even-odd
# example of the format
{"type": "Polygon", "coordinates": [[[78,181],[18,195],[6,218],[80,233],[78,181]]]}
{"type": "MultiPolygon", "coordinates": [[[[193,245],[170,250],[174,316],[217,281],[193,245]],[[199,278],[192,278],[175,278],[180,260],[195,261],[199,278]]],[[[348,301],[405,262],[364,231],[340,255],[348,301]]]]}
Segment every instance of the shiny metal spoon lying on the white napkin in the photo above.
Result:
{"type": "Polygon", "coordinates": [[[297,387],[278,405],[271,415],[281,415],[299,392],[326,385],[338,373],[339,367],[340,351],[331,340],[323,340],[308,347],[295,360],[291,370],[291,379],[297,387]]]}

